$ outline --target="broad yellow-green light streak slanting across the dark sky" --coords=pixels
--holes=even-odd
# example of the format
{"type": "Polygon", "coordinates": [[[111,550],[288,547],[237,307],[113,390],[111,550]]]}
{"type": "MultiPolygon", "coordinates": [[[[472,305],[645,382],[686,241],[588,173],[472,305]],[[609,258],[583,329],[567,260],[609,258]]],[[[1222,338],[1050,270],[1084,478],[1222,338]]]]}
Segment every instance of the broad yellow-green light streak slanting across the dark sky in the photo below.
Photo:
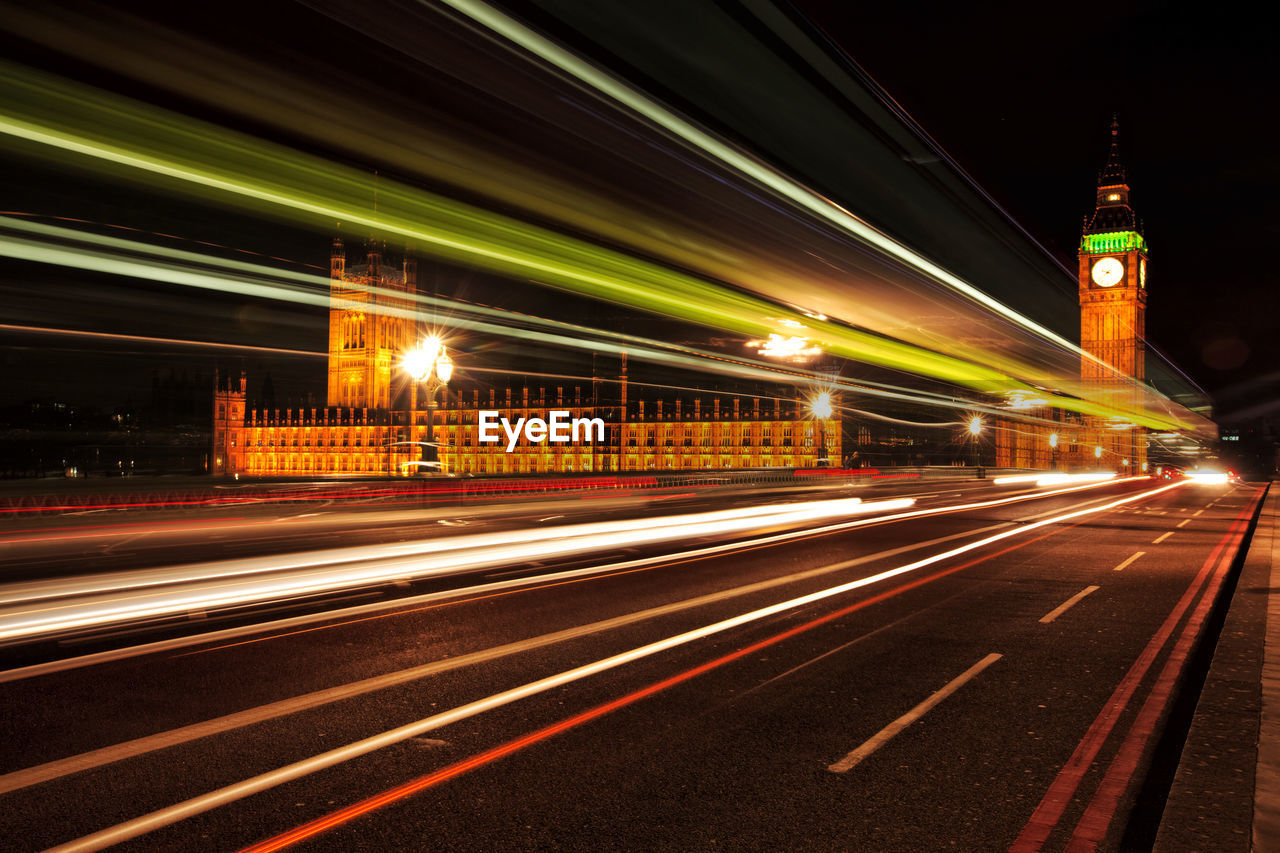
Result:
{"type": "MultiPolygon", "coordinates": [[[[289,214],[323,229],[340,220],[384,237],[397,237],[438,257],[746,337],[765,338],[778,329],[780,318],[790,319],[808,327],[810,339],[837,356],[983,393],[1030,391],[1014,378],[1021,365],[1007,359],[992,356],[992,364],[983,365],[814,320],[722,284],[403,184],[380,182],[379,209],[372,213],[360,201],[372,197],[372,179],[355,169],[18,67],[0,68],[9,78],[9,85],[0,88],[0,133],[70,151],[109,168],[125,167],[160,175],[178,186],[209,191],[220,202],[248,204],[270,215],[289,214]]],[[[733,152],[733,156],[741,165],[750,165],[742,155],[733,152]]],[[[763,167],[753,167],[753,172],[763,177],[772,175],[760,169],[763,167]]],[[[773,183],[783,190],[794,187],[777,175],[773,183]]],[[[828,214],[833,210],[828,202],[815,209],[828,214]]],[[[872,236],[849,214],[841,215],[872,236]]],[[[77,265],[61,250],[44,247],[41,251],[49,263],[77,265]]],[[[100,260],[104,266],[99,269],[105,272],[151,277],[137,263],[100,260]]],[[[173,283],[210,286],[209,277],[189,270],[151,273],[173,283]]],[[[271,291],[259,283],[242,284],[244,293],[271,297],[271,291]]],[[[1107,406],[1070,397],[1051,397],[1047,402],[1082,414],[1117,414],[1107,406]]],[[[1164,418],[1133,419],[1162,429],[1184,428],[1164,418]]]]}

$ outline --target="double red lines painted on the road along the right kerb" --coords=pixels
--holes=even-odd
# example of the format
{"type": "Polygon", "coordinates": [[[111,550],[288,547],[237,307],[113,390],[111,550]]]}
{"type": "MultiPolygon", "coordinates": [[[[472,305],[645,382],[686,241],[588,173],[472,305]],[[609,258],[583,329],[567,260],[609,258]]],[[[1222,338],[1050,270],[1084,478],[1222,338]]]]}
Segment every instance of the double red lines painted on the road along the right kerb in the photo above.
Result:
{"type": "MultiPolygon", "coordinates": [[[[1258,493],[1261,496],[1261,492],[1258,493]]],[[[1106,704],[1102,706],[1102,712],[1089,726],[1088,731],[1084,734],[1084,739],[1075,747],[1075,752],[1066,761],[1066,765],[1059,772],[1057,777],[1050,785],[1048,790],[1044,792],[1044,797],[1041,799],[1039,806],[1032,812],[1030,820],[1027,821],[1027,826],[1019,833],[1014,844],[1009,848],[1010,853],[1033,853],[1039,850],[1044,841],[1048,839],[1050,834],[1057,827],[1057,822],[1062,818],[1062,812],[1066,811],[1068,804],[1070,804],[1071,798],[1075,795],[1076,789],[1080,786],[1080,781],[1088,772],[1089,766],[1093,763],[1093,758],[1097,757],[1098,751],[1106,742],[1111,730],[1115,727],[1116,721],[1119,721],[1120,715],[1128,707],[1129,701],[1133,698],[1134,690],[1138,689],[1138,684],[1147,675],[1147,670],[1155,662],[1156,657],[1160,654],[1161,649],[1169,642],[1169,637],[1172,634],[1174,628],[1181,620],[1183,613],[1190,607],[1192,601],[1196,594],[1208,580],[1210,573],[1215,570],[1219,565],[1219,560],[1226,551],[1228,544],[1235,538],[1238,528],[1243,529],[1240,525],[1248,525],[1248,517],[1253,512],[1253,506],[1257,503],[1257,497],[1254,501],[1235,517],[1231,529],[1228,530],[1226,535],[1215,546],[1212,553],[1210,553],[1208,560],[1201,566],[1199,573],[1192,584],[1183,593],[1178,605],[1165,619],[1164,624],[1156,631],[1156,634],[1147,643],[1147,647],[1134,661],[1133,666],[1125,674],[1124,679],[1116,686],[1111,698],[1107,699],[1106,704]]]]}

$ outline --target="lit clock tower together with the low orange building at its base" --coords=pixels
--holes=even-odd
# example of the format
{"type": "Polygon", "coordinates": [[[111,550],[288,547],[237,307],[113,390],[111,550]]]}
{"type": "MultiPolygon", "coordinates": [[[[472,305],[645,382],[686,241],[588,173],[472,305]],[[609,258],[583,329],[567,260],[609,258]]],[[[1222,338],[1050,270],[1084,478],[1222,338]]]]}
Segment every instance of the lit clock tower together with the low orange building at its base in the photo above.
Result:
{"type": "MultiPolygon", "coordinates": [[[[1146,378],[1147,241],[1129,204],[1117,137],[1119,127],[1112,119],[1111,151],[1098,173],[1097,202],[1084,223],[1078,251],[1080,350],[1084,351],[1080,380],[1098,402],[1119,412],[1137,412],[1146,378]]],[[[1123,415],[1068,421],[1062,412],[1047,409],[1027,414],[1065,423],[1061,426],[1001,423],[996,435],[997,465],[1147,470],[1146,430],[1123,415]],[[1052,446],[1051,435],[1059,437],[1057,447],[1052,446]]]]}

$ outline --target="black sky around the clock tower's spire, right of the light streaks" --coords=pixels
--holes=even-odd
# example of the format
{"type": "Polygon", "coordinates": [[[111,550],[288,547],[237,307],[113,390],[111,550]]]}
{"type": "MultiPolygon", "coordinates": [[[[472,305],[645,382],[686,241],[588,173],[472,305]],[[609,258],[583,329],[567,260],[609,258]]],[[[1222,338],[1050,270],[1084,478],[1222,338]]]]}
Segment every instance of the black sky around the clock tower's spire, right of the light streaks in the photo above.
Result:
{"type": "Polygon", "coordinates": [[[1184,3],[795,5],[1073,269],[1119,114],[1148,339],[1220,415],[1280,414],[1274,28],[1184,3]]]}

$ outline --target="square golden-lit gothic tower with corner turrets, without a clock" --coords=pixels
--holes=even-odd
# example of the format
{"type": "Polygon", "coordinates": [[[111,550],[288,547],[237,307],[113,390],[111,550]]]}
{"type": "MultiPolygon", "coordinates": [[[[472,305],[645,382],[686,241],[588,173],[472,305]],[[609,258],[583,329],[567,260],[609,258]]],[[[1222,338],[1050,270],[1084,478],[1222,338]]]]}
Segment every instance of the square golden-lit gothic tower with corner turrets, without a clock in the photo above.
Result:
{"type": "Polygon", "coordinates": [[[389,410],[401,355],[416,339],[416,263],[406,259],[398,273],[370,240],[365,263],[347,266],[346,248],[334,240],[329,279],[328,405],[389,410]]]}

